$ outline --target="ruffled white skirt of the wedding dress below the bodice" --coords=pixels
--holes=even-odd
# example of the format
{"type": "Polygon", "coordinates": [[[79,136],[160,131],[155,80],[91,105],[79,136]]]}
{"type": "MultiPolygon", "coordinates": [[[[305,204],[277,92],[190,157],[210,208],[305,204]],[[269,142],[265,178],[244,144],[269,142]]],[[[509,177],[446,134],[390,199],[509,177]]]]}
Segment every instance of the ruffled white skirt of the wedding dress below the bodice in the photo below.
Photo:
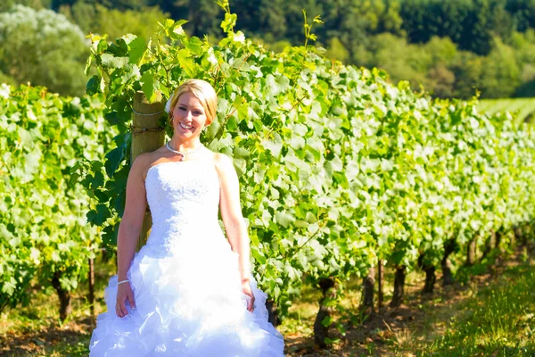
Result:
{"type": "Polygon", "coordinates": [[[104,290],[107,311],[91,337],[91,357],[284,355],[283,336],[268,322],[267,295],[254,281],[255,309],[247,311],[237,254],[226,241],[145,245],[128,279],[136,309],[127,302],[128,315],[115,314],[113,276],[104,290]]]}

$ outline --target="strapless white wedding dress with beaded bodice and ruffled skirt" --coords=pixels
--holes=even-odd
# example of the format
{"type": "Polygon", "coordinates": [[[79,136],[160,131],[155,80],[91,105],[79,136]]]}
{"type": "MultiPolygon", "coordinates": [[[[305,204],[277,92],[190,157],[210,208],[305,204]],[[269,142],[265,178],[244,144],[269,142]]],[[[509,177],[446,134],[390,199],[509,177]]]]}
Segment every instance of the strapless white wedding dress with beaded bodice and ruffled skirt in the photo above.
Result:
{"type": "Polygon", "coordinates": [[[145,188],[152,230],[128,270],[136,310],[128,305],[128,316],[117,317],[112,277],[90,356],[283,356],[283,336],[268,322],[267,295],[254,281],[255,309],[246,309],[238,256],[218,223],[214,164],[157,164],[145,188]]]}

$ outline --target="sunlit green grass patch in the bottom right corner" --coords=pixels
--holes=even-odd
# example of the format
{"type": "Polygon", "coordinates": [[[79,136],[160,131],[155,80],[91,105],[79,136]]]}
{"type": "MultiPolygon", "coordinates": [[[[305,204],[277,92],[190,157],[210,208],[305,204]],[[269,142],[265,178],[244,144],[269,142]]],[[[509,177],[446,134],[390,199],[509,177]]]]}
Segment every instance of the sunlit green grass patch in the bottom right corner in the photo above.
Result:
{"type": "Polygon", "coordinates": [[[455,314],[448,320],[439,311],[428,321],[431,330],[443,325],[443,336],[420,330],[399,351],[422,356],[535,355],[535,268],[525,263],[508,268],[488,284],[473,284],[464,301],[449,307],[455,314]]]}

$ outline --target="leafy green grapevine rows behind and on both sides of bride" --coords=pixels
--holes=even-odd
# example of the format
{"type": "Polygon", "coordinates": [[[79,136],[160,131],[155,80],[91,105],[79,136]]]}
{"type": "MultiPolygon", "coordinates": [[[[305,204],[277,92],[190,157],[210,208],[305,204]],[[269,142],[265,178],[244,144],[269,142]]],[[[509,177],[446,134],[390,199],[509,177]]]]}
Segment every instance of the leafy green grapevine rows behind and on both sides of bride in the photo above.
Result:
{"type": "MultiPolygon", "coordinates": [[[[437,270],[452,284],[459,266],[533,242],[535,132],[520,116],[414,93],[311,46],[268,52],[234,30],[235,14],[222,5],[226,37],[217,46],[186,36],[185,21],[161,23],[152,46],[92,36],[83,98],[2,87],[2,310],[29,303],[36,285],[69,299],[99,249],[113,249],[134,96],[165,100],[188,78],[218,91],[218,118],[202,142],[235,162],[272,318],[288,315],[303,285],[316,286],[319,346],[333,342],[330,327],[342,331],[352,319],[339,303],[350,278],[363,279],[369,315],[383,299],[375,283],[381,292],[384,269],[395,272],[396,307],[411,271],[424,271],[421,288],[432,293],[437,270]]],[[[309,40],[317,21],[305,27],[309,40]]]]}

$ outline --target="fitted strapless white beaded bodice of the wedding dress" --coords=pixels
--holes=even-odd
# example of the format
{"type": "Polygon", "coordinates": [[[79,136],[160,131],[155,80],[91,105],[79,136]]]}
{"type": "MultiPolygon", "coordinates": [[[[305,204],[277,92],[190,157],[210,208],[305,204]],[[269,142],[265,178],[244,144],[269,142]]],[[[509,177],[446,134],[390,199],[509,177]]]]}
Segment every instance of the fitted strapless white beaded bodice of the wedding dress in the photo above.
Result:
{"type": "Polygon", "coordinates": [[[176,245],[182,237],[221,236],[218,225],[219,179],[212,162],[162,162],[145,179],[152,229],[147,245],[176,245]]]}

